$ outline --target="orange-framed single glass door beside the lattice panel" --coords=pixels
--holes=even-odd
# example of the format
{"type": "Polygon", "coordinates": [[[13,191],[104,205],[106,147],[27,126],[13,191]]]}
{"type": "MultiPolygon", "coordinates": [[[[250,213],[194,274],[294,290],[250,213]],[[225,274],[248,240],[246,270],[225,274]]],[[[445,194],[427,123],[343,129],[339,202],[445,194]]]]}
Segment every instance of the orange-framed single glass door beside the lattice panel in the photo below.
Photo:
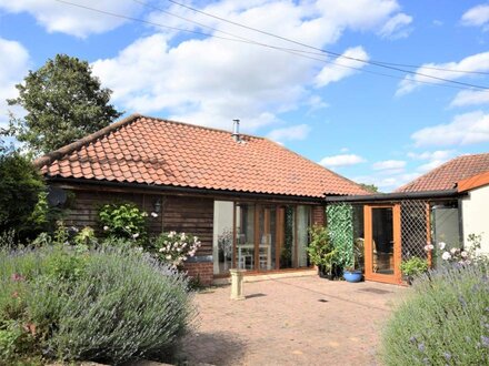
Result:
{"type": "Polygon", "coordinates": [[[400,206],[365,206],[365,277],[401,283],[400,206]]]}

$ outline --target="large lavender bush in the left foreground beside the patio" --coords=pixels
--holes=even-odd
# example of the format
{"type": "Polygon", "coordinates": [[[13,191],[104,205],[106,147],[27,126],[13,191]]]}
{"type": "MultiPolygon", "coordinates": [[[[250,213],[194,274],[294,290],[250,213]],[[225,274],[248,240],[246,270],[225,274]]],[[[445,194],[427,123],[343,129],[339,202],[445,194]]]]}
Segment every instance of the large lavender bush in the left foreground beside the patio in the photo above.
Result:
{"type": "Polygon", "coordinates": [[[164,360],[192,324],[191,297],[182,275],[136,251],[3,251],[0,358],[164,360]]]}

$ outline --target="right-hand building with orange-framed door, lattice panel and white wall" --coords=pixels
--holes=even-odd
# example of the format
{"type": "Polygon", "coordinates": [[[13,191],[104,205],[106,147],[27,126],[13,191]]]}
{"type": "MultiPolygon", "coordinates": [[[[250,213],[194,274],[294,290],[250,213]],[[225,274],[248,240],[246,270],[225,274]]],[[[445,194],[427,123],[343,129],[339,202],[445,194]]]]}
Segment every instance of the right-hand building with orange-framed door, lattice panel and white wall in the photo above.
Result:
{"type": "Polygon", "coordinates": [[[489,253],[489,153],[456,157],[393,193],[325,200],[336,240],[363,243],[367,279],[401,283],[399,265],[412,256],[436,265],[427,243],[461,247],[476,234],[489,253]]]}

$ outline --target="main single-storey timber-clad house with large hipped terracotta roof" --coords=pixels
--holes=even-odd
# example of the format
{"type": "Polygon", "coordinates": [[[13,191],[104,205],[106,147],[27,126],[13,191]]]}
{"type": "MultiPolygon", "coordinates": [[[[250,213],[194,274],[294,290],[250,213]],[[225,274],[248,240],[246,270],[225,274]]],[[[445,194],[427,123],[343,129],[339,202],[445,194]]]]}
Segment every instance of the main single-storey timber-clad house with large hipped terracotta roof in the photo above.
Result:
{"type": "Polygon", "coordinates": [[[203,283],[231,267],[300,268],[308,227],[325,222],[325,195],[367,192],[263,138],[139,114],[36,161],[52,191],[72,192],[67,224],[99,227],[101,204],[129,201],[149,230],[198,235],[186,264],[203,283]]]}

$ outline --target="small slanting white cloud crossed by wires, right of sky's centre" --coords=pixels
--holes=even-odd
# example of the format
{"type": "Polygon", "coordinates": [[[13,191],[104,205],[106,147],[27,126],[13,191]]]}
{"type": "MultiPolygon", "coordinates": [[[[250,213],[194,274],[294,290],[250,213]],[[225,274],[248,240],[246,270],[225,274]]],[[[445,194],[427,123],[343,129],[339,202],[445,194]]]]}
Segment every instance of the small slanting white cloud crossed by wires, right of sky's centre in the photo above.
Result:
{"type": "Polygon", "coordinates": [[[342,57],[338,57],[337,59],[335,59],[335,61],[332,61],[335,62],[333,64],[328,64],[322,68],[322,70],[316,77],[315,83],[317,88],[323,88],[331,82],[340,81],[341,79],[345,79],[358,72],[357,70],[351,68],[361,69],[362,67],[365,67],[365,62],[346,59],[345,57],[359,60],[369,60],[369,55],[362,47],[348,49],[342,53],[342,57]]]}

